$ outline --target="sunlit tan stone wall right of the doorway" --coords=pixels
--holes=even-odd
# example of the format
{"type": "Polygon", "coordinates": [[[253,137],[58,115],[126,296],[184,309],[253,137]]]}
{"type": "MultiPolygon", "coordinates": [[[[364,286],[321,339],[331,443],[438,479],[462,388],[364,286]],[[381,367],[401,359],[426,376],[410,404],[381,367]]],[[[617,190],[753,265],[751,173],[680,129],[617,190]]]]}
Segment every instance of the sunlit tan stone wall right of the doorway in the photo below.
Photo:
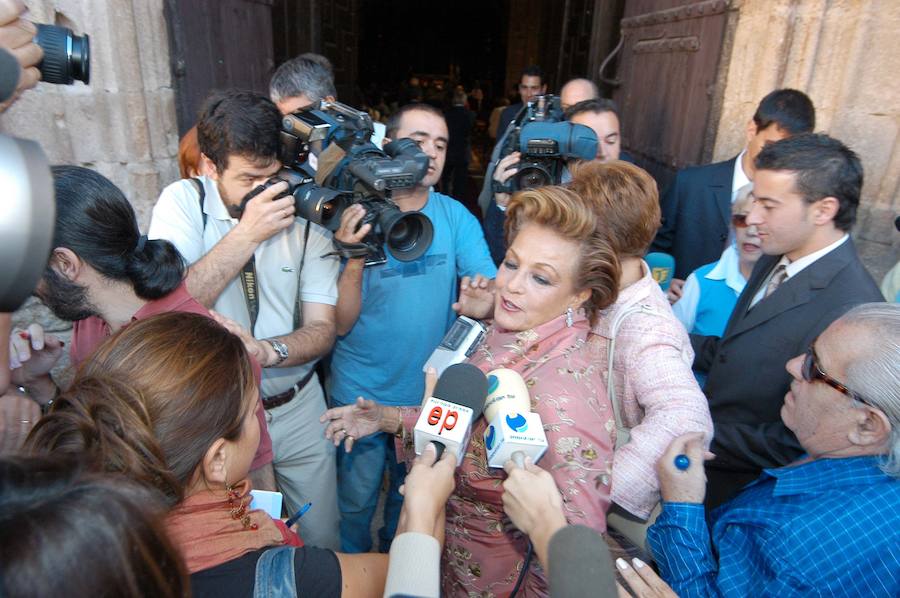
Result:
{"type": "Polygon", "coordinates": [[[714,159],[737,154],[744,127],[772,89],[805,91],[816,129],[862,158],[865,186],[855,238],[880,281],[900,258],[900,2],[742,0],[726,69],[714,159]]]}

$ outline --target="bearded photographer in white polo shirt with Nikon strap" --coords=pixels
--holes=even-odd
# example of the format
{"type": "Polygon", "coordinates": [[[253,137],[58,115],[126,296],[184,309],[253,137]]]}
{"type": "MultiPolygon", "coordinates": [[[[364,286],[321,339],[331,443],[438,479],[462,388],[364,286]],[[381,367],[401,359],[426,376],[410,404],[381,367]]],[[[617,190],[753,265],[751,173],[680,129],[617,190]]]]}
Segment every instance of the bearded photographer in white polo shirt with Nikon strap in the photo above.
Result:
{"type": "Polygon", "coordinates": [[[334,448],[318,422],[325,398],[316,361],[334,342],[338,260],[331,235],[295,218],[284,182],[246,201],[281,168],[281,115],[267,98],[226,90],[207,98],[197,125],[208,176],[163,190],[151,238],[171,241],[190,264],[188,290],[246,331],[265,368],[262,397],[286,508],[312,502],[304,540],[336,548],[334,448]]]}

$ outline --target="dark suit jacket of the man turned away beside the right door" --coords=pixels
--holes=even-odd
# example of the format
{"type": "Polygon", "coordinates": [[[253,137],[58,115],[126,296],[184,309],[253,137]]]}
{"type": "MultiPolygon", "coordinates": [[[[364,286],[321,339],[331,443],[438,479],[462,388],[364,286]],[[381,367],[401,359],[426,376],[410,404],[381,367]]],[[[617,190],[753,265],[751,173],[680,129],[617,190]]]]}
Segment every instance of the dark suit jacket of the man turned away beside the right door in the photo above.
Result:
{"type": "Polygon", "coordinates": [[[660,200],[662,226],[651,251],[675,258],[675,277],[719,259],[731,223],[731,185],[737,157],[679,170],[660,200]]]}

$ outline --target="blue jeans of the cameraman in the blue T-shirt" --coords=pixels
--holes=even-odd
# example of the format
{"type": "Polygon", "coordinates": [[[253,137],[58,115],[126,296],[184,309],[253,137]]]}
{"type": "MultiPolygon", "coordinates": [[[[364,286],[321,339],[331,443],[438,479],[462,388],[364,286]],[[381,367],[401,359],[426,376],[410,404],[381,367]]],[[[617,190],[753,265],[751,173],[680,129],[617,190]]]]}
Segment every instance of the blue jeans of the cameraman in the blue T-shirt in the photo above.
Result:
{"type": "Polygon", "coordinates": [[[372,518],[378,506],[381,480],[388,470],[390,485],[384,504],[384,526],[378,530],[379,552],[388,552],[397,532],[403,497],[399,488],[406,479],[406,464],[397,463],[394,437],[379,432],[357,440],[353,451],[337,450],[338,507],[341,510],[341,552],[372,549],[372,518]]]}

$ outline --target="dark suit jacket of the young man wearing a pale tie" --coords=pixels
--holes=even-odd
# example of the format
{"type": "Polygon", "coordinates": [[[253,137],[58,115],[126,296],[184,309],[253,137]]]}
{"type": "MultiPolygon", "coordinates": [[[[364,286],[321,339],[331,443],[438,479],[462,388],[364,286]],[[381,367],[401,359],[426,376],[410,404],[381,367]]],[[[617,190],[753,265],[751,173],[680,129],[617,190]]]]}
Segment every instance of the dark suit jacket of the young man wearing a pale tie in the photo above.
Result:
{"type": "MultiPolygon", "coordinates": [[[[756,263],[721,339],[691,335],[694,367],[709,374],[703,390],[715,425],[710,450],[716,454],[707,467],[710,486],[716,470],[740,474],[734,478],[736,488],[714,492],[734,494],[743,485],[739,481],[752,480],[763,468],[787,465],[803,453],[781,421],[791,383],[785,364],[850,308],[884,300],[847,239],[748,312],[780,259],[763,256],[756,263]]],[[[720,480],[719,485],[729,484],[720,480]]]]}

